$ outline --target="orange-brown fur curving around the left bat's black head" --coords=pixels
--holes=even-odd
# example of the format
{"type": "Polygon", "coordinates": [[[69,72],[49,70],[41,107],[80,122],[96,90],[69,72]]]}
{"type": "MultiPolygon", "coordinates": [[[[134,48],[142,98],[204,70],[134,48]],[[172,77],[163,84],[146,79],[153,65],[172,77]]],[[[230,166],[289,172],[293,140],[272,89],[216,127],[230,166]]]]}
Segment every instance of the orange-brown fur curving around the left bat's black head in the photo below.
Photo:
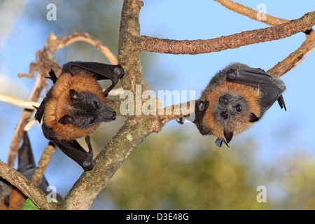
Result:
{"type": "Polygon", "coordinates": [[[69,90],[71,89],[79,93],[88,91],[95,94],[99,99],[104,99],[99,83],[89,74],[80,73],[71,76],[70,73],[63,73],[62,76],[59,76],[57,82],[52,87],[52,97],[48,99],[45,105],[43,116],[43,122],[47,127],[51,127],[55,131],[58,140],[70,141],[85,137],[94,132],[99,125],[99,123],[96,123],[90,128],[83,129],[71,124],[62,125],[58,122],[60,118],[67,115],[68,109],[66,105],[70,100],[69,90]]]}

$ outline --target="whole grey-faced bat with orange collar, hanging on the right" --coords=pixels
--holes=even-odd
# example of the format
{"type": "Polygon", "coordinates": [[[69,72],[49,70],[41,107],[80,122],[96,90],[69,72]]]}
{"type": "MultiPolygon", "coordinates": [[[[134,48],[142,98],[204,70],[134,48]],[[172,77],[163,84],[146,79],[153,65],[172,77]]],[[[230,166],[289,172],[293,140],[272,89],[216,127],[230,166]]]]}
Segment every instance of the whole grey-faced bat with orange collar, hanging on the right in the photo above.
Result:
{"type": "MultiPolygon", "coordinates": [[[[216,73],[195,103],[193,123],[202,135],[213,134],[216,145],[228,146],[232,137],[251,127],[278,100],[286,105],[286,86],[262,69],[234,63],[216,73]]],[[[179,123],[183,124],[183,118],[179,123]]]]}

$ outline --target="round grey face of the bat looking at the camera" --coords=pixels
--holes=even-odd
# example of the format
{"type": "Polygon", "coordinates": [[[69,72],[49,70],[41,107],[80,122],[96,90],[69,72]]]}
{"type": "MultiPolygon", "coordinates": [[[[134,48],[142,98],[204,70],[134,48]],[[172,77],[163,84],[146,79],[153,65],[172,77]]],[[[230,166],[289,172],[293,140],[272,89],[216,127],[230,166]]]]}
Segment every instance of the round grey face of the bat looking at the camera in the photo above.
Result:
{"type": "Polygon", "coordinates": [[[226,130],[230,130],[231,124],[239,122],[239,118],[246,116],[246,113],[248,103],[238,94],[223,94],[214,106],[214,117],[226,130]]]}

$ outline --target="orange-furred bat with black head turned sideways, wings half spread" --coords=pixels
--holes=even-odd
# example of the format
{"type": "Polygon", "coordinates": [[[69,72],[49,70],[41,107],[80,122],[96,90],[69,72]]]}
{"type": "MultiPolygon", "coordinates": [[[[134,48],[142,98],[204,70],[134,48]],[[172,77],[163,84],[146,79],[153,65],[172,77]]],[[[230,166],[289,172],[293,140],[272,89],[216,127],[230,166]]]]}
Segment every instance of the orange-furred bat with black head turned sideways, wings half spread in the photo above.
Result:
{"type": "Polygon", "coordinates": [[[38,107],[35,118],[43,134],[85,171],[94,167],[89,134],[101,122],[116,119],[116,112],[104,103],[105,97],[125,74],[123,67],[97,62],[68,62],[57,78],[49,72],[54,84],[38,107]],[[112,81],[104,92],[97,80],[112,81]],[[76,139],[85,137],[89,151],[76,139]]]}

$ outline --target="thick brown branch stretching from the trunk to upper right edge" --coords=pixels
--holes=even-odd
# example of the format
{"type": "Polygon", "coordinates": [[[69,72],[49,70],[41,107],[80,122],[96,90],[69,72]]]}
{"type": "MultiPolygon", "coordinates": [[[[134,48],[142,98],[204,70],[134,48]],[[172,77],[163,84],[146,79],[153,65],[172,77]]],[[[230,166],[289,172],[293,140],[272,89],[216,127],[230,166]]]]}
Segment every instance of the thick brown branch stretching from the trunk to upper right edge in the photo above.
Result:
{"type": "Polygon", "coordinates": [[[297,20],[292,20],[276,27],[242,31],[230,36],[221,36],[208,40],[177,41],[150,36],[134,36],[139,50],[167,54],[196,55],[221,50],[239,48],[253,43],[279,40],[311,29],[315,25],[315,12],[306,13],[297,20]]]}

